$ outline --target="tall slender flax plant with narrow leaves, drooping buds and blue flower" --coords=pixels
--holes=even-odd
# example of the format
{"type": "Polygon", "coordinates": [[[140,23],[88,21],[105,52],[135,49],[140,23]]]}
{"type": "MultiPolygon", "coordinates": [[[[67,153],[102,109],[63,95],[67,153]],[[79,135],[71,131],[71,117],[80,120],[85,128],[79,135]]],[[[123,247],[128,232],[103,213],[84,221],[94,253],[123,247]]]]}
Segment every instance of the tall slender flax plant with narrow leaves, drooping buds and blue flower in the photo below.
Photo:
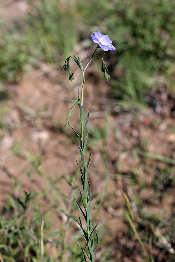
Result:
{"type": "Polygon", "coordinates": [[[97,232],[95,232],[95,229],[97,227],[97,224],[95,226],[92,225],[92,203],[90,201],[90,192],[91,192],[91,188],[90,188],[90,182],[88,179],[88,165],[90,162],[90,158],[91,158],[91,151],[89,154],[89,158],[88,158],[88,162],[85,164],[85,150],[86,150],[86,145],[87,145],[87,141],[88,141],[88,134],[89,131],[84,139],[84,130],[85,127],[88,123],[89,120],[89,111],[87,112],[86,115],[86,119],[84,122],[84,111],[83,111],[83,91],[84,91],[84,86],[85,86],[85,71],[88,67],[88,65],[90,64],[90,62],[92,61],[92,59],[96,56],[96,55],[100,55],[101,59],[102,59],[102,67],[101,67],[101,71],[104,73],[104,77],[105,79],[108,81],[108,79],[110,79],[110,76],[108,75],[108,69],[104,63],[104,60],[102,58],[102,55],[104,55],[105,53],[96,53],[98,48],[102,48],[105,52],[109,50],[115,50],[115,47],[112,45],[112,41],[111,39],[108,37],[108,35],[102,35],[99,31],[98,32],[93,32],[95,33],[95,36],[91,36],[92,40],[97,44],[97,47],[95,48],[95,51],[93,52],[88,64],[85,66],[85,68],[83,69],[83,65],[81,62],[80,57],[78,56],[78,59],[75,56],[69,56],[65,63],[64,63],[64,70],[68,71],[69,73],[69,79],[72,81],[74,80],[74,73],[71,72],[70,69],[70,65],[69,65],[69,60],[70,58],[72,58],[76,64],[78,65],[78,67],[80,68],[81,72],[82,72],[82,85],[81,85],[81,97],[79,94],[79,89],[78,89],[78,100],[71,100],[71,102],[73,102],[73,105],[71,107],[71,109],[69,110],[68,114],[67,114],[67,122],[65,124],[65,128],[69,127],[69,123],[70,123],[70,117],[71,117],[71,113],[72,113],[72,109],[74,108],[76,102],[78,103],[78,106],[80,108],[80,122],[81,122],[81,134],[79,135],[74,128],[70,125],[70,127],[74,130],[74,132],[76,133],[76,135],[78,136],[78,138],[80,139],[80,154],[81,154],[81,167],[77,162],[78,165],[78,169],[80,171],[80,175],[81,175],[81,183],[82,183],[82,187],[83,187],[83,194],[80,190],[80,196],[81,196],[81,201],[83,204],[83,209],[81,208],[81,206],[79,205],[79,203],[76,201],[76,204],[79,208],[79,210],[81,211],[81,214],[83,215],[83,219],[85,219],[86,221],[86,228],[83,227],[83,223],[81,222],[81,218],[79,217],[79,220],[76,219],[76,221],[78,222],[80,228],[81,228],[81,232],[83,234],[83,237],[85,239],[85,247],[82,247],[78,241],[76,240],[76,242],[78,243],[78,246],[80,247],[82,254],[79,253],[81,255],[81,262],[85,261],[87,262],[87,259],[91,262],[95,261],[95,249],[97,248],[97,244],[98,244],[98,235],[97,232]],[[83,123],[84,122],[84,123],[83,123]],[[96,237],[94,237],[94,232],[96,237]]]}

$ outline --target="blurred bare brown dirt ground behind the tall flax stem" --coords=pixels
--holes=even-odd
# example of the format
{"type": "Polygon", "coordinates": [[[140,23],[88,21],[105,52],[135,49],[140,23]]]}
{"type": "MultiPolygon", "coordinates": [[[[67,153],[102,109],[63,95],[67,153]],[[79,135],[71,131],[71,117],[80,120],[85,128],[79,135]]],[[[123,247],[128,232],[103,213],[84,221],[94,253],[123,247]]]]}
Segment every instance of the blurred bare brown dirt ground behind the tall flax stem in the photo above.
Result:
{"type": "MultiPolygon", "coordinates": [[[[95,72],[93,66],[89,74],[91,72],[95,72]]],[[[12,177],[22,181],[22,188],[27,192],[31,190],[42,192],[48,189],[46,180],[37,172],[33,172],[36,183],[31,183],[24,172],[24,169],[30,170],[29,159],[17,156],[12,151],[13,146],[17,143],[22,145],[20,152],[28,150],[34,156],[43,154],[41,167],[51,179],[54,179],[55,174],[58,176],[74,174],[77,170],[75,156],[78,161],[80,160],[78,142],[74,142],[75,136],[71,129],[63,132],[62,127],[71,107],[70,100],[76,98],[77,89],[80,86],[80,75],[76,76],[73,84],[65,81],[66,78],[67,73],[64,70],[43,67],[41,70],[34,70],[31,76],[24,78],[19,85],[7,86],[9,90],[13,89],[13,94],[8,99],[10,109],[6,115],[6,121],[11,129],[3,134],[1,141],[1,206],[6,200],[6,194],[11,193],[12,177]],[[59,79],[59,83],[56,79],[59,79]]],[[[138,190],[139,186],[131,185],[129,174],[137,170],[139,179],[146,185],[150,185],[140,192],[140,197],[145,202],[143,210],[161,217],[164,215],[162,208],[166,211],[166,216],[170,216],[174,212],[174,191],[158,206],[156,201],[152,201],[152,203],[148,201],[155,196],[155,190],[152,187],[154,174],[142,170],[140,167],[141,158],[138,160],[133,153],[133,147],[143,148],[144,145],[151,153],[172,157],[175,135],[167,128],[167,125],[173,125],[174,117],[169,111],[163,122],[160,122],[162,118],[160,115],[156,115],[152,109],[138,111],[125,108],[125,112],[123,112],[122,108],[118,110],[119,107],[117,107],[119,112],[111,115],[110,111],[116,110],[116,104],[115,101],[108,98],[108,84],[103,80],[97,84],[91,79],[93,78],[87,76],[84,93],[84,111],[86,112],[87,109],[90,111],[88,128],[92,132],[105,126],[108,129],[105,142],[103,139],[89,139],[89,148],[92,148],[89,168],[92,192],[97,196],[106,190],[97,221],[101,227],[105,227],[105,231],[108,231],[108,236],[114,238],[112,244],[115,248],[112,257],[116,261],[144,261],[143,254],[138,252],[139,247],[136,239],[129,241],[127,238],[128,228],[123,217],[125,201],[122,192],[124,190],[132,199],[133,190],[138,190]],[[102,155],[105,155],[106,152],[108,169],[105,169],[102,160],[102,155]],[[124,252],[126,247],[133,251],[124,252]]],[[[75,107],[71,117],[71,125],[76,128],[78,128],[78,115],[78,108],[75,107]]],[[[155,162],[152,159],[146,159],[145,163],[150,167],[153,163],[161,168],[166,166],[164,162],[155,162]]],[[[61,185],[61,191],[70,194],[70,190],[64,183],[61,185]]],[[[43,209],[46,209],[47,204],[44,201],[41,204],[43,209]]],[[[60,221],[59,217],[55,219],[57,222],[60,221]]],[[[75,229],[74,225],[72,230],[75,229]]],[[[108,241],[107,244],[102,245],[97,252],[97,258],[110,243],[108,241]]],[[[156,248],[154,252],[159,254],[159,250],[156,248]]]]}

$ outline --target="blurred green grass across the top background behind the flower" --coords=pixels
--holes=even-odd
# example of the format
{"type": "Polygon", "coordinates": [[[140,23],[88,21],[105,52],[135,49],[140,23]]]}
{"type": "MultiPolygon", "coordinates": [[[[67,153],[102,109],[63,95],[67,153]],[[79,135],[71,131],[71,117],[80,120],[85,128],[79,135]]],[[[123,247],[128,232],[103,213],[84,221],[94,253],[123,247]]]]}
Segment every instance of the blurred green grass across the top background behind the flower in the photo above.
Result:
{"type": "MultiPolygon", "coordinates": [[[[77,0],[66,8],[60,1],[44,0],[33,9],[22,22],[1,21],[2,81],[18,82],[29,64],[57,62],[80,39],[89,38],[96,26],[97,30],[112,35],[116,46],[112,62],[115,81],[110,82],[116,98],[130,101],[131,105],[145,105],[144,96],[157,84],[156,75],[166,76],[173,83],[173,0],[77,0]]],[[[74,56],[74,60],[83,72],[80,58],[74,56]]],[[[105,66],[102,68],[104,71],[105,66]]],[[[104,76],[108,80],[106,70],[104,76]]],[[[73,75],[69,77],[72,79],[73,75]]]]}

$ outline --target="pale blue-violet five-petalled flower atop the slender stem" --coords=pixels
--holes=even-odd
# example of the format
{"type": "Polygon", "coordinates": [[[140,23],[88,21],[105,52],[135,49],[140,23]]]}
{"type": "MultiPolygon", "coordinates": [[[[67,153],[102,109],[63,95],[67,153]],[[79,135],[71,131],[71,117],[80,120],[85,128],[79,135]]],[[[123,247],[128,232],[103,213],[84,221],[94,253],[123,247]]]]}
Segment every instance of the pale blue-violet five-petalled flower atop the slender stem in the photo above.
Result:
{"type": "Polygon", "coordinates": [[[113,51],[115,50],[115,47],[112,45],[111,39],[108,37],[108,35],[102,35],[99,31],[93,32],[95,33],[95,36],[91,36],[94,43],[99,44],[99,46],[106,52],[109,50],[113,51]]]}

